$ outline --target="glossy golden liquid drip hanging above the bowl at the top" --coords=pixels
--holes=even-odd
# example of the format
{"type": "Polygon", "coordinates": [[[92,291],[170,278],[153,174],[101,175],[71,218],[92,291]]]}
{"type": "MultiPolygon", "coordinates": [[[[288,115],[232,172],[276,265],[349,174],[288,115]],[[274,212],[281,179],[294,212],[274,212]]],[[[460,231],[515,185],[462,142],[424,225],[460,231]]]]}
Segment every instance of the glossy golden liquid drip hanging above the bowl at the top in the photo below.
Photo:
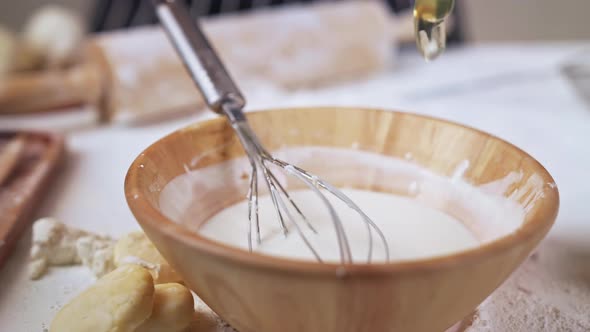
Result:
{"type": "Polygon", "coordinates": [[[445,20],[454,4],[454,0],[416,0],[414,4],[416,45],[426,61],[436,59],[445,50],[445,20]]]}

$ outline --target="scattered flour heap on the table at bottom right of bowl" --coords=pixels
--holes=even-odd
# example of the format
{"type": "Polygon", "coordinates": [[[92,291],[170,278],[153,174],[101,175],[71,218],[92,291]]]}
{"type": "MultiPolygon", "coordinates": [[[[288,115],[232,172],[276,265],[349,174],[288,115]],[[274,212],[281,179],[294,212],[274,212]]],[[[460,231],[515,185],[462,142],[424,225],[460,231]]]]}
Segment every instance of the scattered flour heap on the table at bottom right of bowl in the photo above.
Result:
{"type": "Polygon", "coordinates": [[[590,331],[590,251],[544,242],[465,330],[504,331],[590,331]]]}

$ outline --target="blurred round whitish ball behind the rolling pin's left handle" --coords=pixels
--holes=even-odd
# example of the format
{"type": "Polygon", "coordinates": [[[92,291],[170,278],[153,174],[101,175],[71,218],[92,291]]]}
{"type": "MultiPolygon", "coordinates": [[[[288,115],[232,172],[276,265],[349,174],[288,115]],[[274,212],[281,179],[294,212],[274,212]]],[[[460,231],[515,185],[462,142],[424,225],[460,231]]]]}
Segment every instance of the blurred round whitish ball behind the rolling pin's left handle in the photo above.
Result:
{"type": "Polygon", "coordinates": [[[31,58],[49,67],[62,67],[76,57],[84,38],[84,25],[73,11],[56,5],[39,8],[25,24],[23,41],[31,58]]]}

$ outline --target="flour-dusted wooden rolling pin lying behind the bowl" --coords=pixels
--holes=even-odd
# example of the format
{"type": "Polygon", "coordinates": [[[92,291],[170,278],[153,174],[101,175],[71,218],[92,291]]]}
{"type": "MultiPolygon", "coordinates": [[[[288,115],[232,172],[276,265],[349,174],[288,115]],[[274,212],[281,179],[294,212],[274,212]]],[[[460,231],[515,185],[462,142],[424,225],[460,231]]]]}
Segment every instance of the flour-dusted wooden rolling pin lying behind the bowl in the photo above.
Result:
{"type": "MultiPolygon", "coordinates": [[[[381,2],[345,1],[225,15],[203,28],[238,81],[298,89],[383,70],[395,60],[396,43],[413,39],[412,24],[381,2]]],[[[44,102],[100,103],[106,119],[127,122],[203,106],[159,27],[100,34],[89,44],[92,56],[78,68],[8,81],[0,88],[0,113],[44,102]]]]}

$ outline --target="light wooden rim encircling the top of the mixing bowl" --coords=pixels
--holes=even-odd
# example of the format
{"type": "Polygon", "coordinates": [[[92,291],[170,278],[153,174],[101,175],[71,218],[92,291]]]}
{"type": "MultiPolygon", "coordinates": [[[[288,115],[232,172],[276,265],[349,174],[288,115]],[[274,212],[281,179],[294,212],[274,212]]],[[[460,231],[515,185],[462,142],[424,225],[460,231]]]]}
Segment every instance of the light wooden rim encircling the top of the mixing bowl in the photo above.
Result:
{"type": "MultiPolygon", "coordinates": [[[[523,157],[529,158],[538,168],[538,171],[542,173],[545,182],[555,183],[551,174],[545,169],[545,167],[529,155],[524,150],[507,142],[495,135],[484,132],[482,130],[470,127],[468,125],[460,124],[450,120],[437,118],[428,115],[415,114],[409,112],[401,112],[394,110],[385,110],[379,108],[367,108],[367,107],[291,107],[291,108],[275,108],[267,110],[250,111],[246,113],[247,117],[257,116],[258,114],[266,112],[297,112],[300,110],[311,110],[314,111],[326,111],[326,110],[338,110],[338,111],[377,111],[395,113],[403,116],[410,116],[414,118],[420,118],[428,121],[434,121],[444,123],[454,127],[467,129],[475,132],[479,135],[484,135],[488,138],[500,141],[503,144],[514,148],[523,157]]],[[[288,273],[293,274],[315,274],[320,276],[333,277],[334,275],[340,277],[346,276],[362,276],[362,277],[378,277],[383,275],[404,274],[404,273],[415,273],[415,272],[430,272],[434,270],[440,270],[445,268],[451,268],[459,264],[474,264],[475,262],[481,262],[486,258],[499,255],[502,252],[508,251],[519,244],[528,243],[531,238],[538,236],[540,241],[551,229],[555,222],[559,211],[559,191],[557,186],[550,188],[554,194],[553,199],[549,199],[547,203],[541,205],[536,214],[528,222],[523,223],[512,233],[503,235],[495,238],[492,241],[480,244],[479,246],[461,250],[455,253],[444,254],[440,256],[431,256],[412,260],[401,260],[392,262],[375,262],[375,263],[354,263],[351,265],[342,265],[340,263],[317,263],[315,261],[298,260],[294,258],[284,258],[277,256],[270,256],[257,252],[249,252],[238,247],[229,246],[221,242],[211,240],[204,236],[199,235],[196,232],[189,230],[188,228],[170,220],[157,208],[143,196],[141,190],[139,190],[138,179],[140,165],[143,164],[150,150],[156,149],[156,145],[169,139],[170,137],[177,135],[178,133],[186,130],[198,130],[203,127],[211,126],[213,124],[225,121],[223,117],[217,117],[208,119],[205,121],[199,121],[173,131],[170,134],[158,139],[157,141],[150,144],[144,149],[138,157],[132,162],[125,177],[125,197],[127,204],[131,209],[132,214],[143,228],[143,224],[149,224],[150,228],[157,229],[159,233],[167,237],[169,240],[182,242],[184,245],[192,247],[204,254],[207,254],[216,259],[220,259],[232,264],[241,265],[243,267],[256,267],[259,269],[265,269],[269,272],[275,273],[288,273]],[[140,221],[141,220],[141,221],[140,221]]],[[[546,189],[545,189],[546,191],[546,189]]],[[[157,243],[156,243],[157,246],[157,243]]]]}

